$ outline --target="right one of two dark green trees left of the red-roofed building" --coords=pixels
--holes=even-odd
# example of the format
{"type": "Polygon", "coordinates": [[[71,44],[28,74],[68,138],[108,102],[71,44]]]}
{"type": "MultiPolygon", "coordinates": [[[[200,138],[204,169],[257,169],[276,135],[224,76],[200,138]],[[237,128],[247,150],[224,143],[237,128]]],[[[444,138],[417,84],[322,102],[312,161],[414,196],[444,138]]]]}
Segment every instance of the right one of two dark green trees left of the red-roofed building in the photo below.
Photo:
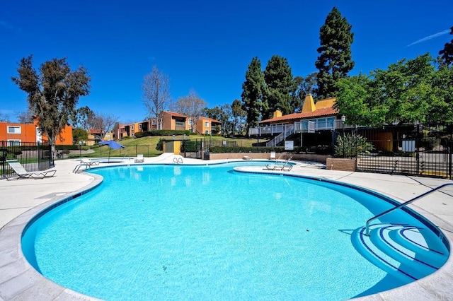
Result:
{"type": "Polygon", "coordinates": [[[263,110],[263,119],[272,117],[275,110],[284,115],[293,113],[296,105],[292,93],[296,87],[287,59],[277,55],[271,57],[264,70],[264,81],[266,110],[263,110]]]}

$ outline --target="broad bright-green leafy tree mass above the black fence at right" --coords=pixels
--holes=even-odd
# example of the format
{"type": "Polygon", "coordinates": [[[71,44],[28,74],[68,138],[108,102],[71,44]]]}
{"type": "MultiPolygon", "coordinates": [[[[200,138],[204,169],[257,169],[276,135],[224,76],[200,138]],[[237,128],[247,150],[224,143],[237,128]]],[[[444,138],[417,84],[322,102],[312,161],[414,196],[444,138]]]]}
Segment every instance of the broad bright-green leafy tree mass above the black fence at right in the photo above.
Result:
{"type": "Polygon", "coordinates": [[[429,54],[403,59],[338,81],[336,108],[348,124],[364,126],[452,122],[452,80],[452,67],[436,69],[429,54]]]}

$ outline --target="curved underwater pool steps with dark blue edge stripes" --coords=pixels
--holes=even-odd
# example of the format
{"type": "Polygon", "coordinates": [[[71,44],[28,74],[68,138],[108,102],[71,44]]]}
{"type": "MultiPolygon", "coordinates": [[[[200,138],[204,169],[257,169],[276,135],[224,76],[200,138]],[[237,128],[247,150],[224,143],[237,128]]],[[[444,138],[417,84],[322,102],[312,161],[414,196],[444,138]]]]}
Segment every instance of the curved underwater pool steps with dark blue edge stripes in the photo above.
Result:
{"type": "Polygon", "coordinates": [[[352,232],[352,244],[362,256],[387,273],[411,282],[434,273],[448,250],[432,231],[413,225],[379,223],[352,232]]]}

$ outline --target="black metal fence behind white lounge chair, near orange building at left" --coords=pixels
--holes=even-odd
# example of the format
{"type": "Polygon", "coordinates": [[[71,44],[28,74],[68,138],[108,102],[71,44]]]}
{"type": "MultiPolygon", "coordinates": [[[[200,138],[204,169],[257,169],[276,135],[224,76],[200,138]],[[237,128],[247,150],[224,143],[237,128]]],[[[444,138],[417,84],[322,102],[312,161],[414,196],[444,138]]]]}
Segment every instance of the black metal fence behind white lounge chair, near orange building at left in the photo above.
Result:
{"type": "Polygon", "coordinates": [[[16,175],[6,160],[18,160],[28,172],[38,172],[54,167],[49,144],[35,142],[0,141],[1,178],[16,175]]]}

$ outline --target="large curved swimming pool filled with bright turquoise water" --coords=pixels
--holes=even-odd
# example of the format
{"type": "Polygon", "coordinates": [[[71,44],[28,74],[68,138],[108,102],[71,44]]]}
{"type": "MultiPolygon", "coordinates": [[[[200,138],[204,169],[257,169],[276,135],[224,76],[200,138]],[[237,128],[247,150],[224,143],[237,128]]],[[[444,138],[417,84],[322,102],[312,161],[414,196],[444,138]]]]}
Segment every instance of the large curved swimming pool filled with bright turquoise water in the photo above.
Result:
{"type": "MultiPolygon", "coordinates": [[[[407,283],[361,256],[352,237],[389,203],[231,166],[93,170],[102,186],[35,221],[24,253],[53,281],[108,300],[338,300],[407,283]]],[[[426,228],[406,213],[381,221],[401,218],[426,228]]]]}

